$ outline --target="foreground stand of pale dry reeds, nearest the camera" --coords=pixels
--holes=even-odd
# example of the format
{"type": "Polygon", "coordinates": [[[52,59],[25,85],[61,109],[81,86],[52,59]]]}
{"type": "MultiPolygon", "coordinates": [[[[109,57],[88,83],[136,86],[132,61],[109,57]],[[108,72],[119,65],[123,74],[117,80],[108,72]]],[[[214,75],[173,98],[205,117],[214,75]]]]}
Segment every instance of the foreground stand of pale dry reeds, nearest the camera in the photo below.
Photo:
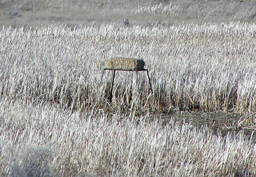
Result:
{"type": "Polygon", "coordinates": [[[0,101],[2,176],[255,176],[256,147],[172,119],[0,101]]]}

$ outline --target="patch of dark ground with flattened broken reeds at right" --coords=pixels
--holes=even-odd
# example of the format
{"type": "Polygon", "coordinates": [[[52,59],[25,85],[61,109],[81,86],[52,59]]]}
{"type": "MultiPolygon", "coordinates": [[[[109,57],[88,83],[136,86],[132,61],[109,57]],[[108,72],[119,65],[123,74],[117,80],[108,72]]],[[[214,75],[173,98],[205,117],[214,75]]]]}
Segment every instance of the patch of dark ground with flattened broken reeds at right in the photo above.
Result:
{"type": "Polygon", "coordinates": [[[228,133],[234,137],[243,132],[246,138],[252,139],[256,143],[256,113],[248,113],[240,115],[239,113],[224,113],[224,112],[175,112],[169,115],[158,115],[157,119],[162,121],[163,125],[167,125],[170,119],[177,122],[191,123],[194,127],[201,129],[203,126],[208,126],[213,134],[226,136],[228,133]]]}

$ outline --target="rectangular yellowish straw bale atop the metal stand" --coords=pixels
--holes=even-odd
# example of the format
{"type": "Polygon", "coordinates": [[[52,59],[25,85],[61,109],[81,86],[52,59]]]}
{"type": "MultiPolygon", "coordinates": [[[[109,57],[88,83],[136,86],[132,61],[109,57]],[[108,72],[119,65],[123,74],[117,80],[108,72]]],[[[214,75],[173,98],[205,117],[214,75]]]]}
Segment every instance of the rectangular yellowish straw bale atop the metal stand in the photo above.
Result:
{"type": "Polygon", "coordinates": [[[109,58],[106,67],[116,70],[143,70],[145,62],[137,58],[109,58]]]}

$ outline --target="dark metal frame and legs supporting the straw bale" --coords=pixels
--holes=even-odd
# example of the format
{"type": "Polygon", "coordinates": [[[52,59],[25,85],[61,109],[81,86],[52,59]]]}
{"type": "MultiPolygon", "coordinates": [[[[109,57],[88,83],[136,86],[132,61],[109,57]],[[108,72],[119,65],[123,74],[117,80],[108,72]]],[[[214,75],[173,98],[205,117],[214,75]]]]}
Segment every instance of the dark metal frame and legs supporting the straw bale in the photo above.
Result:
{"type": "MultiPolygon", "coordinates": [[[[101,79],[100,79],[99,87],[101,86],[101,83],[102,83],[102,79],[103,79],[103,75],[104,75],[104,73],[105,73],[105,70],[113,70],[113,78],[112,78],[111,93],[110,93],[110,102],[112,101],[113,84],[114,84],[114,79],[115,79],[115,73],[116,73],[116,71],[135,71],[135,72],[136,72],[136,81],[137,81],[138,90],[140,90],[140,87],[139,87],[139,80],[138,80],[138,72],[139,72],[139,71],[146,71],[147,74],[148,74],[148,69],[142,69],[142,70],[122,70],[122,69],[104,68],[104,69],[103,69],[103,72],[102,72],[101,79]]],[[[151,93],[153,93],[153,90],[152,90],[152,87],[151,87],[150,78],[149,78],[149,74],[148,74],[148,82],[149,82],[149,85],[150,85],[151,93]]]]}

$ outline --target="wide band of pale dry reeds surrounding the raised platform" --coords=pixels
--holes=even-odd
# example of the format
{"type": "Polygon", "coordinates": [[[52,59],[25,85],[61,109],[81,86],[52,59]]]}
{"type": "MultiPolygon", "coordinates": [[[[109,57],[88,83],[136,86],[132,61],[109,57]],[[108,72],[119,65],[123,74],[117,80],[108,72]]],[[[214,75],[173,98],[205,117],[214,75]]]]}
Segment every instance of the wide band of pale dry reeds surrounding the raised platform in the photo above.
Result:
{"type": "Polygon", "coordinates": [[[131,73],[119,72],[108,104],[110,75],[98,88],[106,58],[142,58],[144,112],[256,111],[255,24],[143,26],[65,26],[0,31],[0,93],[12,100],[51,102],[71,110],[129,111],[131,73]]]}

